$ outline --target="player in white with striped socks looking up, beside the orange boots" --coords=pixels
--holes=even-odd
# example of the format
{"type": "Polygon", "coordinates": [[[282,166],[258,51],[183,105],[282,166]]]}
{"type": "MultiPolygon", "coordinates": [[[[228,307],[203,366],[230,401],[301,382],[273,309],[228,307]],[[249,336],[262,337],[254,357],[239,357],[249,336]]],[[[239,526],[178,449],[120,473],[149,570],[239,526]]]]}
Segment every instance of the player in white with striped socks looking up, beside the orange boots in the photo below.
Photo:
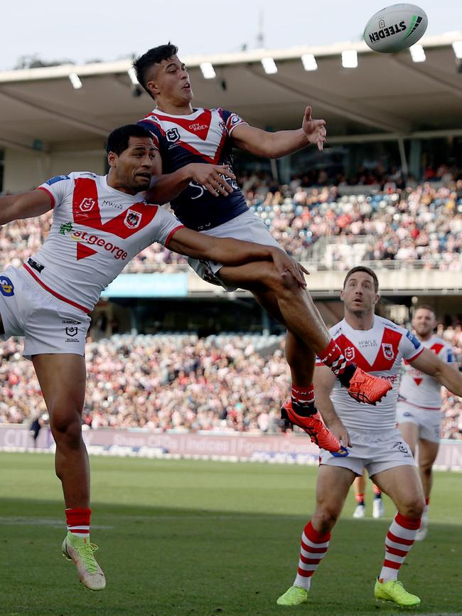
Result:
{"type": "Polygon", "coordinates": [[[419,597],[408,593],[397,580],[424,510],[424,493],[412,452],[396,428],[400,364],[402,359],[409,361],[458,395],[462,393],[462,376],[425,349],[410,331],[375,315],[378,288],[377,276],[368,267],[350,270],[340,294],[345,318],[331,331],[358,366],[388,378],[392,392],[375,406],[360,405],[338,386],[326,366],[316,366],[316,397],[323,418],[331,432],[348,445],[349,455],[321,452],[316,510],[303,529],[294,585],[279,597],[278,605],[299,605],[308,600],[311,576],[326,555],[331,530],[351,484],[364,468],[398,510],[385,538],[385,559],[375,583],[375,598],[401,607],[420,603],[419,597]]]}

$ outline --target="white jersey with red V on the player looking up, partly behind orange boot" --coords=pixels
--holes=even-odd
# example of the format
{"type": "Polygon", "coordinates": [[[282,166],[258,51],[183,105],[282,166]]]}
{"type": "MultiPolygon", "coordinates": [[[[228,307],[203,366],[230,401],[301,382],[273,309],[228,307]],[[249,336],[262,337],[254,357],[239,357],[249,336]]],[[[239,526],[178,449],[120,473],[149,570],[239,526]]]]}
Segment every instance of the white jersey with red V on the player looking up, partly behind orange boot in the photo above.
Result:
{"type": "MultiPolygon", "coordinates": [[[[343,319],[329,331],[348,361],[353,361],[365,372],[386,378],[392,384],[392,390],[373,406],[356,402],[348,395],[348,391],[335,381],[331,400],[346,428],[394,428],[402,359],[416,359],[424,347],[410,331],[377,315],[371,329],[353,329],[343,319]]],[[[316,366],[323,366],[323,363],[317,359],[316,366]]]]}

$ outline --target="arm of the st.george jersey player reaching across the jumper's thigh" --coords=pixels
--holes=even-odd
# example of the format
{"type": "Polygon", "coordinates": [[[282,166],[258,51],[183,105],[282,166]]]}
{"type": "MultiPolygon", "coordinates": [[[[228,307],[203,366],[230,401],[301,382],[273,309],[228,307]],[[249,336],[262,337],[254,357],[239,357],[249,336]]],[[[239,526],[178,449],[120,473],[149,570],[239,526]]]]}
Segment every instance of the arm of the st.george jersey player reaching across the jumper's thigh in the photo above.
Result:
{"type": "Polygon", "coordinates": [[[242,242],[232,238],[214,238],[191,229],[176,231],[168,248],[193,259],[207,259],[223,265],[237,266],[252,261],[272,261],[281,276],[291,274],[300,287],[306,287],[305,268],[274,246],[242,242]]]}

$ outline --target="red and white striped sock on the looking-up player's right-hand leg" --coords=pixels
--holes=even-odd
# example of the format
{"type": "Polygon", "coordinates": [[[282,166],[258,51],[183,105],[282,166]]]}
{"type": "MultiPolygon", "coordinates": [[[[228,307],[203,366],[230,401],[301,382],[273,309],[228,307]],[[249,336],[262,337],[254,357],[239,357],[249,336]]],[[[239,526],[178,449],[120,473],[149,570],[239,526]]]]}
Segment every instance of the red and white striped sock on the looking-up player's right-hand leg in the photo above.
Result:
{"type": "Polygon", "coordinates": [[[398,579],[398,571],[407,553],[414,545],[420,519],[407,518],[396,514],[385,538],[385,560],[380,571],[380,582],[398,579]]]}

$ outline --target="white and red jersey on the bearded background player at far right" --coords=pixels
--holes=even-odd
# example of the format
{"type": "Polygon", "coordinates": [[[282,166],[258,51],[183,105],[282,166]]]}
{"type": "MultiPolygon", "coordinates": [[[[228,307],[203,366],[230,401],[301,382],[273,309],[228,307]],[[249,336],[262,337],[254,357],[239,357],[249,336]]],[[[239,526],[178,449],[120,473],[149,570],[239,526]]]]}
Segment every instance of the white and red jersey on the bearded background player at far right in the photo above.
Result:
{"type": "MultiPolygon", "coordinates": [[[[457,363],[451,345],[438,336],[431,336],[429,340],[422,341],[421,345],[436,354],[441,361],[457,363]]],[[[412,368],[408,361],[404,361],[399,398],[419,408],[440,410],[441,385],[433,376],[412,368]]]]}

